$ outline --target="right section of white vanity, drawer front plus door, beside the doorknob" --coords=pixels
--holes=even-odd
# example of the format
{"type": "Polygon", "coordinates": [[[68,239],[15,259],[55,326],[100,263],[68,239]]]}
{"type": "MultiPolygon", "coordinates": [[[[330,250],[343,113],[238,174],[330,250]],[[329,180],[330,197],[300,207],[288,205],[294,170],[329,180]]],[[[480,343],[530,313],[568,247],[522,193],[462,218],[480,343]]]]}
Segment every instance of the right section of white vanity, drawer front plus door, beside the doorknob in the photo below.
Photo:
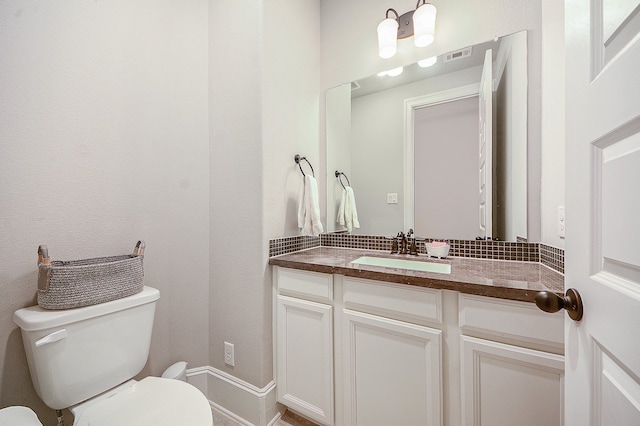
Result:
{"type": "Polygon", "coordinates": [[[564,317],[459,295],[464,425],[561,425],[564,317]]]}

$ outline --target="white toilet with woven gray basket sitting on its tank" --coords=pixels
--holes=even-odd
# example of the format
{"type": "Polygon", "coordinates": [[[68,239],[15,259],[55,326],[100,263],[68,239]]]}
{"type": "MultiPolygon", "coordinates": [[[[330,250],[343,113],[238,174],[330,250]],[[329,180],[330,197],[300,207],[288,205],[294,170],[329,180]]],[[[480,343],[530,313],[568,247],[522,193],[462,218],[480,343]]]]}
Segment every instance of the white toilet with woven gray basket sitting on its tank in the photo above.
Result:
{"type": "MultiPolygon", "coordinates": [[[[194,386],[160,377],[132,379],[147,362],[159,298],[157,289],[145,286],[98,305],[16,311],[13,320],[22,330],[42,401],[54,410],[70,409],[77,426],[213,425],[209,402],[194,386]]],[[[35,417],[34,423],[20,424],[41,423],[35,417]]]]}

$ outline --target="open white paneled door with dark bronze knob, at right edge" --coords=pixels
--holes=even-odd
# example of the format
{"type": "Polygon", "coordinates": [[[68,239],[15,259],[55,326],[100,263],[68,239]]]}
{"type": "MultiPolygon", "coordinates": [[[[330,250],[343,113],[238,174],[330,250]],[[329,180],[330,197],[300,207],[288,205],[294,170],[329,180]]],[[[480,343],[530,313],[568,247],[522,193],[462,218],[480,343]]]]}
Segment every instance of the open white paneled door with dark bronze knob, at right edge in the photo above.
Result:
{"type": "Polygon", "coordinates": [[[565,424],[640,425],[640,8],[566,0],[565,424]]]}

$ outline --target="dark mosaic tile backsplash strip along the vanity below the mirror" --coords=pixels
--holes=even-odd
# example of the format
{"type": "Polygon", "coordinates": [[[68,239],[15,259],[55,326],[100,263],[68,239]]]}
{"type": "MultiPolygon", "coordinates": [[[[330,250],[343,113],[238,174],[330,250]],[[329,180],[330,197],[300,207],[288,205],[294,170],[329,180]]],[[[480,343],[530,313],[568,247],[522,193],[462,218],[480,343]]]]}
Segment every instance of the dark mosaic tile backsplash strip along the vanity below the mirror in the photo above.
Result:
{"type": "MultiPolygon", "coordinates": [[[[427,238],[425,241],[431,242],[434,240],[427,238]]],[[[564,250],[546,244],[474,240],[445,241],[451,246],[449,256],[452,257],[539,262],[564,274],[564,250]]],[[[392,242],[393,238],[390,237],[349,234],[321,234],[319,237],[283,237],[269,241],[269,257],[319,246],[390,252],[392,242]]],[[[419,242],[417,245],[419,253],[427,253],[424,242],[419,242]]]]}

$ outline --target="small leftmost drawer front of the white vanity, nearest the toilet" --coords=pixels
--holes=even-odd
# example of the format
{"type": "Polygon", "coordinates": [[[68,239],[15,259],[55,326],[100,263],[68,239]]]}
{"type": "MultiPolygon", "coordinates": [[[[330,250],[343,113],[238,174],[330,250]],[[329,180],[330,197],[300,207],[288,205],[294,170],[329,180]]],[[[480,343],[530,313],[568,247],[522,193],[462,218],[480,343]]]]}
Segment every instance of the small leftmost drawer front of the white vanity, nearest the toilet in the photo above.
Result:
{"type": "Polygon", "coordinates": [[[278,293],[324,303],[333,300],[333,275],[278,266],[274,268],[278,293]]]}

